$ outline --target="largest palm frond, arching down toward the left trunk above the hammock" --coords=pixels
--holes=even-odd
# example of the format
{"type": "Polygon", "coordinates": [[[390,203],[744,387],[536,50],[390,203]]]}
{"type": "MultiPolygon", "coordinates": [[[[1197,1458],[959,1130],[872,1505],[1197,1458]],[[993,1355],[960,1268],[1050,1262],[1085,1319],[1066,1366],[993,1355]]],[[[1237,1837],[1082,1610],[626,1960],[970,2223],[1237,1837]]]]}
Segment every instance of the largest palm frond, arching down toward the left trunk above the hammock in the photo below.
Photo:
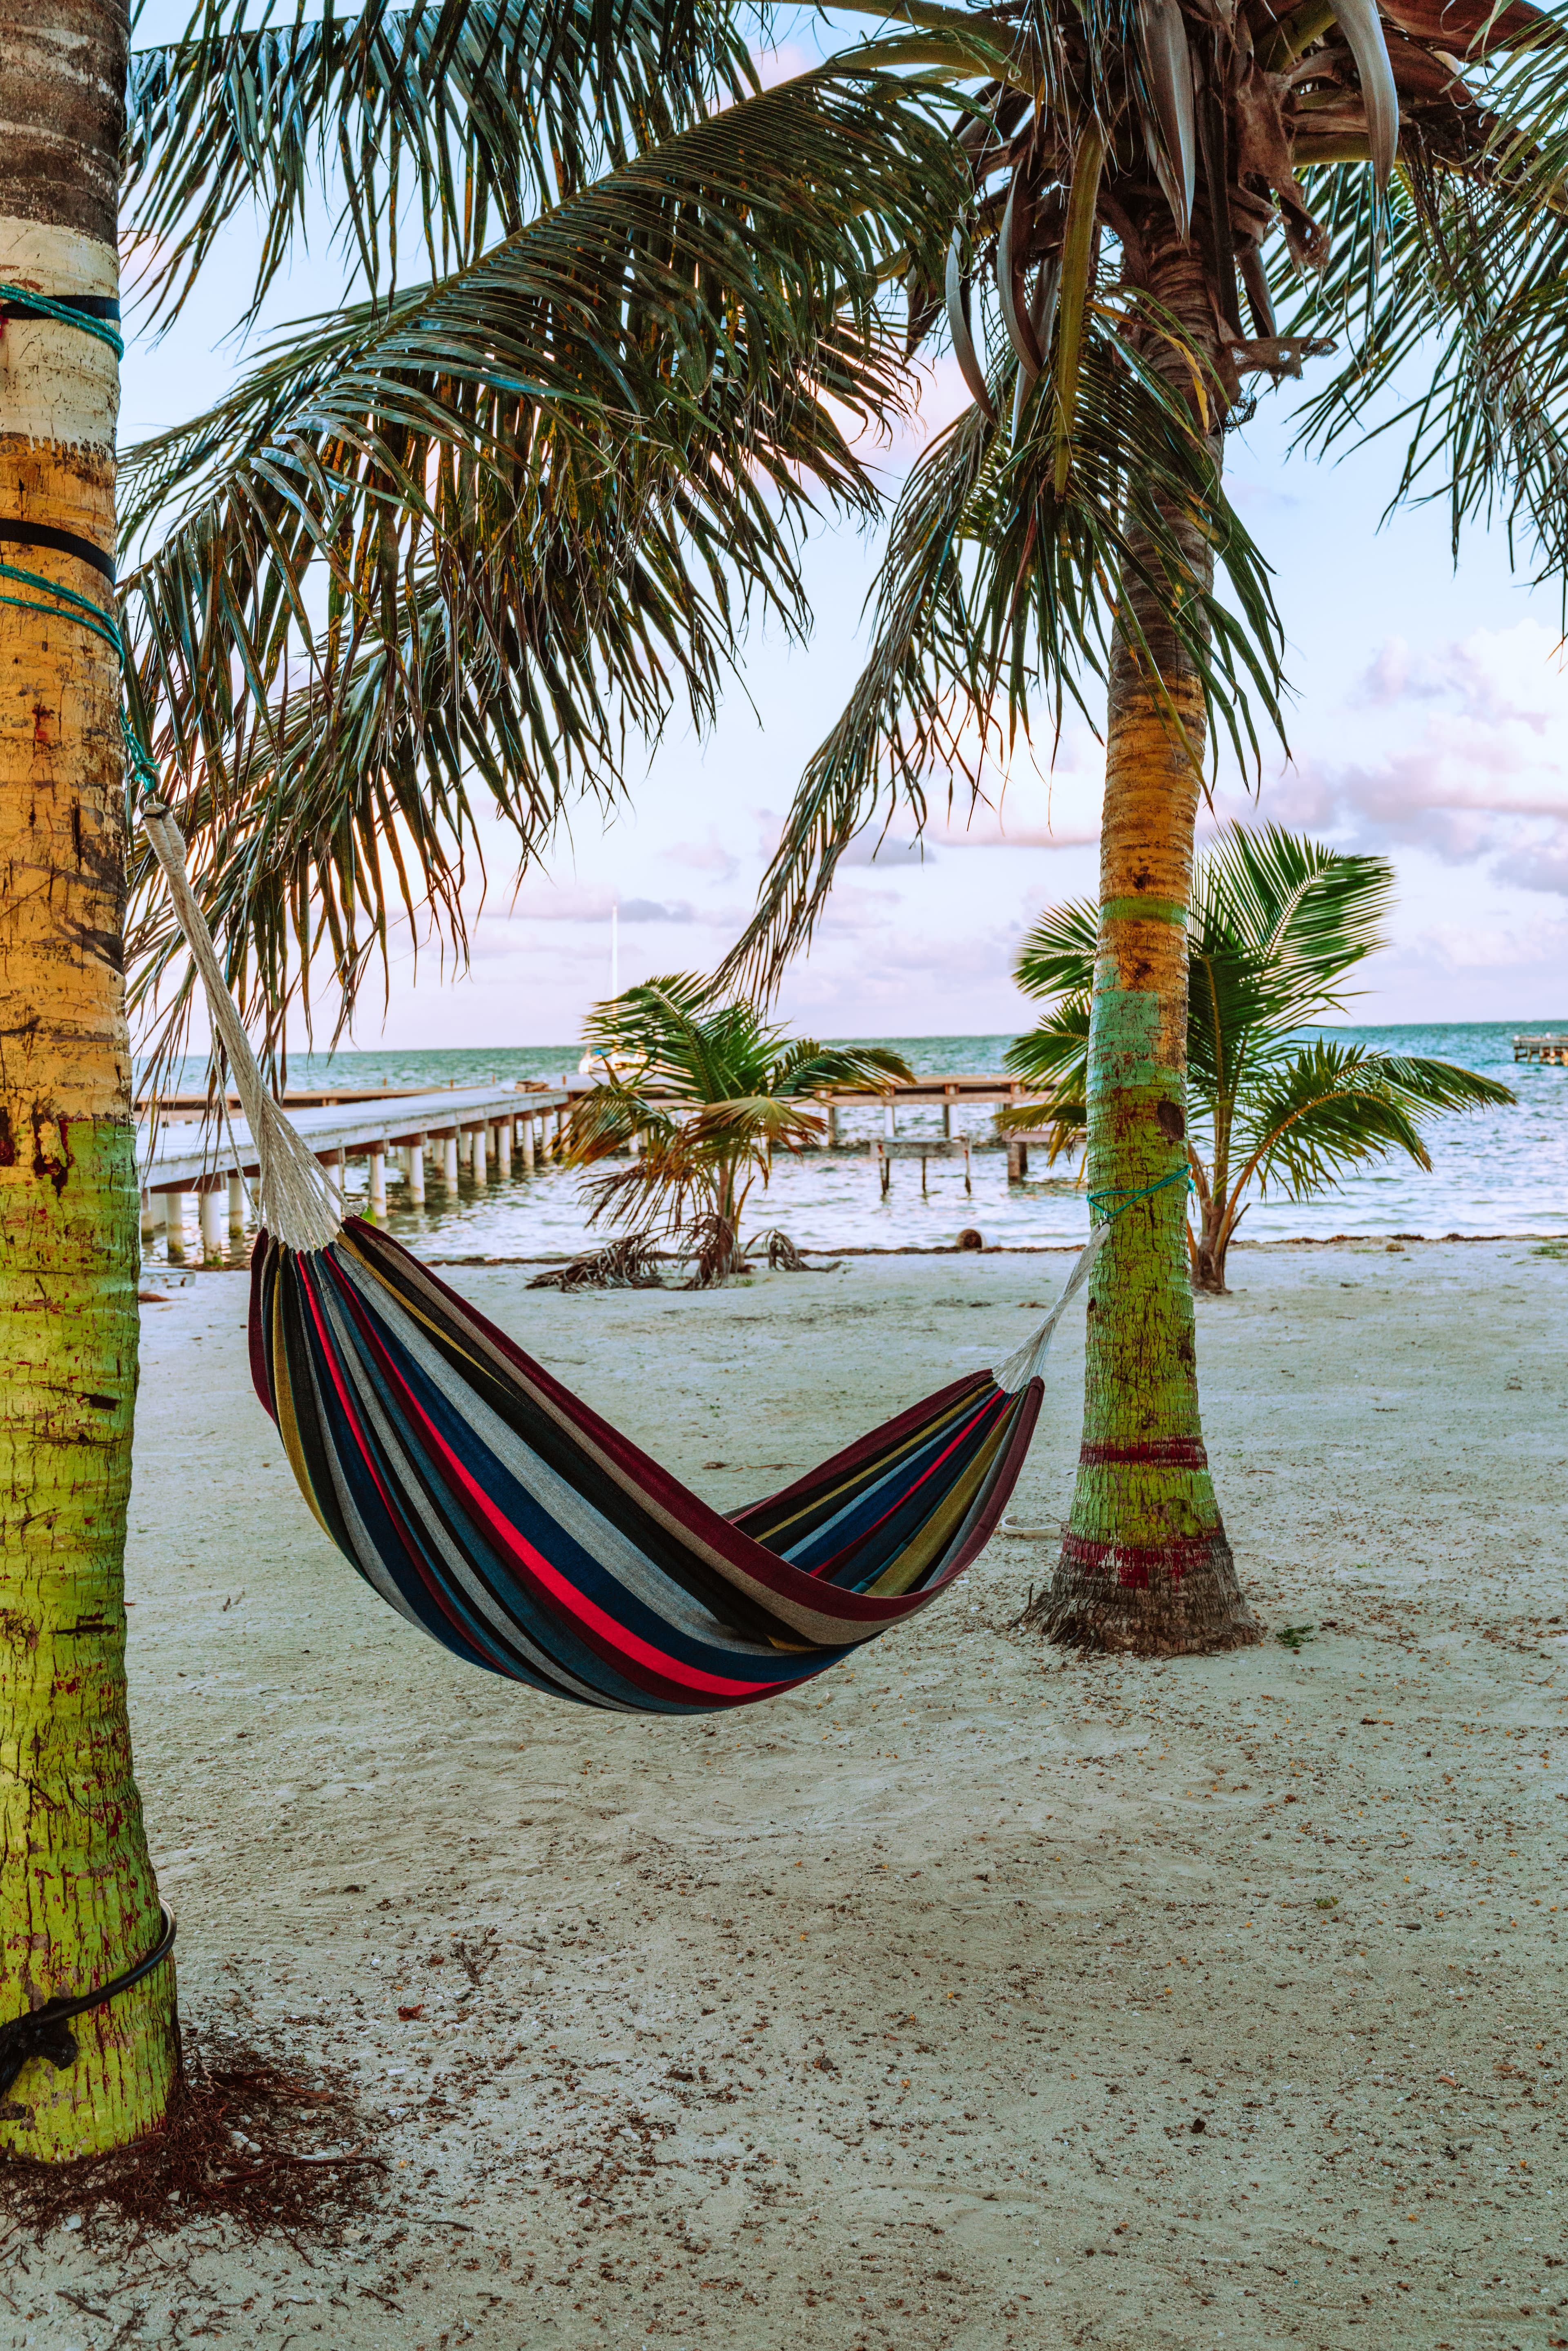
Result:
{"type": "MultiPolygon", "coordinates": [[[[527,856],[710,712],[752,597],[804,623],[813,498],[877,503],[846,414],[907,395],[884,223],[933,245],[952,169],[919,92],[806,75],[127,454],[132,534],[181,501],[122,590],[136,717],[273,1032],[317,947],[348,1016],[397,905],[463,952],[475,792],[527,856]]],[[[139,952],[146,999],[158,917],[139,952]]]]}

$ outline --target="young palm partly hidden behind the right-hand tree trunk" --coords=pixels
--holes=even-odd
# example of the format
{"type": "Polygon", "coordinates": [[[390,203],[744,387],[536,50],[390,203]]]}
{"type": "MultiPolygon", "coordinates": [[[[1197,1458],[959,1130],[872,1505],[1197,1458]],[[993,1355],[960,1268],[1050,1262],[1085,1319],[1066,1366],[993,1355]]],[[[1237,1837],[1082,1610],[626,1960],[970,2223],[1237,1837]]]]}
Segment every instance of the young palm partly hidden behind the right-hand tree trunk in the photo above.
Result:
{"type": "MultiPolygon", "coordinates": [[[[1382,945],[1394,889],[1385,858],[1352,858],[1269,825],[1229,828],[1199,858],[1190,917],[1187,1159],[1197,1225],[1192,1284],[1225,1291],[1225,1255],[1253,1185],[1307,1199],[1340,1173],[1408,1152],[1429,1168],[1422,1126],[1443,1110],[1514,1096],[1476,1070],[1361,1044],[1302,1041],[1345,1011],[1345,973],[1382,945]]],[[[1053,997],[1009,1070],[1046,1093],[1051,1157],[1084,1140],[1098,912],[1048,907],[1018,957],[1018,985],[1053,997]]],[[[1041,1119],[1039,1103],[1001,1124],[1041,1119]]]]}

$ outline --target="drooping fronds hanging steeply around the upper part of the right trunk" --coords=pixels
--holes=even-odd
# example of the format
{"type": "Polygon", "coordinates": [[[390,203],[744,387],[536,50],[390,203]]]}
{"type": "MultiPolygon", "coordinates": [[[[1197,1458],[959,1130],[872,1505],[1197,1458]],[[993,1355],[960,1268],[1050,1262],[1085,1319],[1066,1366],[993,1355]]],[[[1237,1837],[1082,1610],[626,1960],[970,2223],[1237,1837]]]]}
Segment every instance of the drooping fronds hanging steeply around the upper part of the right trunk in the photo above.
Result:
{"type": "MultiPolygon", "coordinates": [[[[1251,696],[1284,734],[1267,567],[1225,498],[1199,416],[1140,346],[1147,329],[1171,341],[1147,303],[1091,308],[1065,496],[1044,379],[1027,430],[1009,440],[971,407],[912,470],[875,592],[872,654],[806,766],[726,980],[778,983],[879,804],[886,823],[905,809],[919,832],[933,771],[947,776],[947,809],[959,790],[973,806],[985,762],[1027,743],[1037,703],[1048,729],[1067,701],[1088,717],[1084,679],[1107,675],[1114,621],[1135,628],[1133,585],[1168,616],[1211,724],[1239,757],[1258,750],[1251,696]],[[1225,569],[1229,602],[1194,576],[1194,531],[1225,569]]],[[[1009,357],[992,383],[997,416],[1013,379],[1009,357]]]]}

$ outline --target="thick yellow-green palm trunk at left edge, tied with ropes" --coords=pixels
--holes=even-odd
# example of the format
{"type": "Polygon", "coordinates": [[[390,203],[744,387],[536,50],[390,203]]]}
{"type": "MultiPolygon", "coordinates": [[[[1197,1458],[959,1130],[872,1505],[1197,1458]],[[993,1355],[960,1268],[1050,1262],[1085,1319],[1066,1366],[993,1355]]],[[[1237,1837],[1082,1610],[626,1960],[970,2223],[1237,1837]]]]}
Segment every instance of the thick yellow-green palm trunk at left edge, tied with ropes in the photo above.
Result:
{"type": "MultiPolygon", "coordinates": [[[[113,296],[127,21],[118,0],[0,16],[0,280],[113,296]]],[[[63,322],[0,334],[0,520],[115,543],[113,350],[63,322]]],[[[0,560],[110,604],[82,552],[0,560]]],[[[0,581],[49,607],[47,590],[0,581]]],[[[125,1030],[120,679],[108,644],[0,604],[0,2017],[89,1991],[158,1942],[125,1712],[125,1505],[136,1394],[136,1152],[125,1030]]],[[[33,2059],[0,2146],[125,2144],[176,2074],[174,1968],[33,2059]]]]}

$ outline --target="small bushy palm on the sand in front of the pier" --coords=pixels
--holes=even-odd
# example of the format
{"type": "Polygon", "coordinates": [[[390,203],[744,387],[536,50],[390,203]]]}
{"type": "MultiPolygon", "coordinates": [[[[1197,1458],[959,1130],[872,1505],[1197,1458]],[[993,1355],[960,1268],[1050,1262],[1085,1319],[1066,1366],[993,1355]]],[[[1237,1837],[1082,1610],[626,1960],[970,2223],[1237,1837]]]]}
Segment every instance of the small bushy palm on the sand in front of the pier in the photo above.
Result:
{"type": "Polygon", "coordinates": [[[745,1201],[757,1180],[766,1187],[776,1150],[799,1152],[825,1133],[811,1105],[835,1086],[882,1093],[889,1079],[912,1077],[886,1046],[785,1037],[752,1004],[722,1002],[715,983],[693,973],[599,1004],[583,1039],[609,1077],[574,1105],[567,1157],[597,1166],[611,1152],[635,1152],[630,1168],[590,1185],[592,1223],[604,1215],[679,1234],[701,1288],[745,1270],[745,1201]]]}

